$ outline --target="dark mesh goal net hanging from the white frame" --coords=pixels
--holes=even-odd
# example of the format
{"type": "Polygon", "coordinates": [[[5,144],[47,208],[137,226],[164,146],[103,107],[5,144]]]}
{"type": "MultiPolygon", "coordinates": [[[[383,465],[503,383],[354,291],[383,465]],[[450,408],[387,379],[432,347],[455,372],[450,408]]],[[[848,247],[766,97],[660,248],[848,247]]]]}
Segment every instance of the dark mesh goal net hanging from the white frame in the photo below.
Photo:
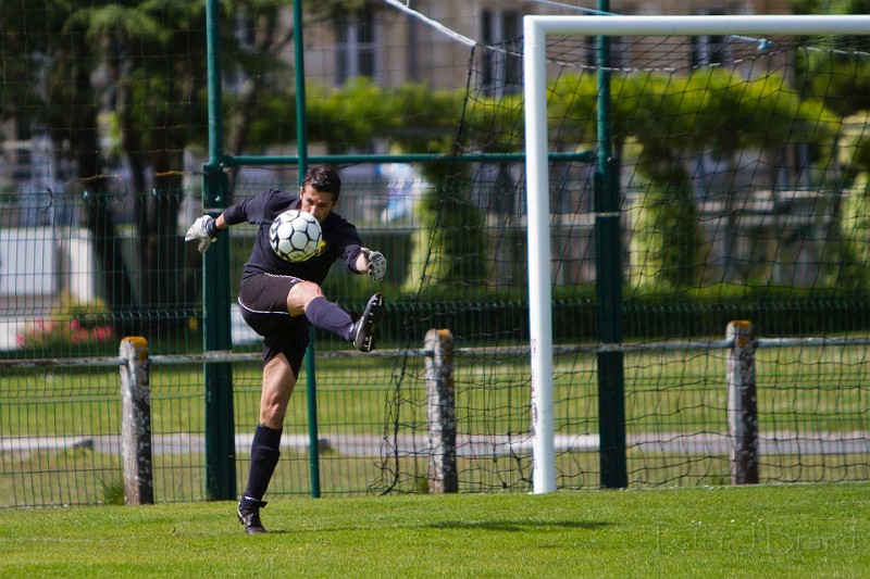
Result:
{"type": "Polygon", "coordinates": [[[456,155],[422,201],[409,356],[372,488],[426,487],[428,401],[409,358],[430,327],[456,348],[461,491],[536,489],[543,461],[557,488],[597,487],[614,419],[629,486],[726,482],[720,342],[735,319],[788,338],[756,354],[761,479],[867,478],[868,20],[537,21],[532,42],[472,49],[456,155]],[[539,60],[523,52],[534,42],[539,60]],[[609,311],[602,260],[619,280],[609,311]],[[608,331],[624,417],[600,404],[608,331]]]}

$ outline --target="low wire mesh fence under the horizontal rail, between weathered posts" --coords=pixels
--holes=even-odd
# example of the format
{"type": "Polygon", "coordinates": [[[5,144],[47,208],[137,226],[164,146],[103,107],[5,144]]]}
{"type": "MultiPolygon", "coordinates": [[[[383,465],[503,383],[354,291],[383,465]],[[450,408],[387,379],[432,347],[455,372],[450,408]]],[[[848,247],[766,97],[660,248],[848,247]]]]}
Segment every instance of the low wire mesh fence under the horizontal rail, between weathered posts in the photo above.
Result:
{"type": "MultiPolygon", "coordinates": [[[[394,316],[401,309],[394,307],[394,316]]],[[[863,480],[870,475],[866,395],[870,339],[770,339],[757,342],[761,482],[863,480]]],[[[323,496],[423,492],[433,452],[426,432],[432,403],[423,343],[376,355],[346,350],[318,357],[320,486],[323,496]],[[401,374],[399,427],[385,401],[401,374]],[[422,416],[420,416],[422,414],[422,416]],[[415,433],[408,431],[419,423],[415,433]],[[405,430],[402,430],[405,429],[405,430]],[[422,473],[413,483],[401,473],[422,473]]],[[[726,484],[728,368],[724,337],[708,342],[624,344],[627,473],[632,487],[726,484]]],[[[556,352],[558,484],[599,486],[594,343],[556,352]]],[[[456,392],[460,492],[529,488],[527,348],[458,348],[456,392]],[[495,365],[494,365],[495,364],[495,365]],[[526,373],[527,374],[527,373],[526,373]],[[490,468],[475,463],[485,458],[490,468]]],[[[153,354],[150,361],[153,494],[157,502],[199,501],[208,493],[202,365],[223,360],[235,379],[234,441],[244,473],[260,390],[259,353],[153,354]]],[[[123,500],[121,361],[7,358],[0,380],[0,504],[117,503],[123,500]]],[[[271,496],[307,496],[308,400],[294,394],[271,496]]],[[[235,481],[243,480],[237,477],[235,481]]]]}

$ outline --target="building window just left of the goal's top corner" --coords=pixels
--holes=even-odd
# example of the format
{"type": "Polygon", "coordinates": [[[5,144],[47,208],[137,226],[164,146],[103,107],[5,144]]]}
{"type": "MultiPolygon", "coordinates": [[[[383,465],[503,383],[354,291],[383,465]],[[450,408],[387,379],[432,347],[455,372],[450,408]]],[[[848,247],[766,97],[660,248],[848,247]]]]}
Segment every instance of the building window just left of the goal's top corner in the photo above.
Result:
{"type": "Polygon", "coordinates": [[[483,88],[494,95],[522,90],[522,14],[484,10],[481,18],[483,43],[483,88]]]}

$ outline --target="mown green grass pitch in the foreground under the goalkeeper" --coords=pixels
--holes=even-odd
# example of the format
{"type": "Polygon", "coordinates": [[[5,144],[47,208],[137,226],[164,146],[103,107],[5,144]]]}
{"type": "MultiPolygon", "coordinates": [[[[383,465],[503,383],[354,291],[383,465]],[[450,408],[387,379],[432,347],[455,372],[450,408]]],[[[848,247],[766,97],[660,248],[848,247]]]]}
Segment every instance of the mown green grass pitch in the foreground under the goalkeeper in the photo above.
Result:
{"type": "Polygon", "coordinates": [[[867,577],[870,486],[0,511],[2,577],[867,577]]]}

